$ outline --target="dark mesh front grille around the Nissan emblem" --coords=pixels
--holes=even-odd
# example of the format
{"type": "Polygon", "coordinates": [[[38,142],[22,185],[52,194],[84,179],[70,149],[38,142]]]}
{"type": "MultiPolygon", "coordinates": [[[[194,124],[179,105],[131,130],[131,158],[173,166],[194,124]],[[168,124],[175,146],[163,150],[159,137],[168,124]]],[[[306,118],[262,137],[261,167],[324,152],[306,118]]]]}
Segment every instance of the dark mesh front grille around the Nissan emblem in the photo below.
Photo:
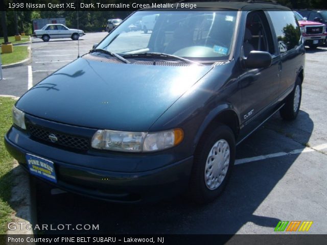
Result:
{"type": "Polygon", "coordinates": [[[33,136],[33,138],[35,139],[47,141],[54,145],[61,145],[67,148],[73,148],[83,151],[89,149],[89,140],[86,138],[54,132],[50,129],[41,128],[32,124],[27,124],[26,126],[31,136],[33,136]],[[56,142],[51,141],[51,139],[49,138],[49,135],[51,134],[54,134],[57,137],[56,142]]]}

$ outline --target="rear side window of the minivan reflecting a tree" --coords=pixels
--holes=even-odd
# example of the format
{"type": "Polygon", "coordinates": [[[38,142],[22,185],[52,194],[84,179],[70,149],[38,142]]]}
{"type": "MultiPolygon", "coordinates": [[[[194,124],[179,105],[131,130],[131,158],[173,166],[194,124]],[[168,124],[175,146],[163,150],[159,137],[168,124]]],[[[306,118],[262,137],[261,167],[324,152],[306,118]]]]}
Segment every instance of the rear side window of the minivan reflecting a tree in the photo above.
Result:
{"type": "Polygon", "coordinates": [[[285,53],[299,45],[301,32],[291,11],[269,11],[278,40],[279,52],[285,53]]]}

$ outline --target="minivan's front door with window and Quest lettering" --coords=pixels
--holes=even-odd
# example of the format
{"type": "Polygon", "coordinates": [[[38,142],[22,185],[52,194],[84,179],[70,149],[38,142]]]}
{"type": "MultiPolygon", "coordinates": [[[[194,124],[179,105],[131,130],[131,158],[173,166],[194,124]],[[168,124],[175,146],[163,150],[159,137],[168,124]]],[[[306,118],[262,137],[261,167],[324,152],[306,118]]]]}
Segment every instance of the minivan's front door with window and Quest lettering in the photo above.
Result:
{"type": "Polygon", "coordinates": [[[265,12],[249,12],[242,48],[243,58],[251,51],[265,51],[271,54],[272,64],[267,68],[243,69],[240,76],[241,127],[245,127],[245,134],[258,126],[278,97],[281,61],[273,40],[265,12]]]}

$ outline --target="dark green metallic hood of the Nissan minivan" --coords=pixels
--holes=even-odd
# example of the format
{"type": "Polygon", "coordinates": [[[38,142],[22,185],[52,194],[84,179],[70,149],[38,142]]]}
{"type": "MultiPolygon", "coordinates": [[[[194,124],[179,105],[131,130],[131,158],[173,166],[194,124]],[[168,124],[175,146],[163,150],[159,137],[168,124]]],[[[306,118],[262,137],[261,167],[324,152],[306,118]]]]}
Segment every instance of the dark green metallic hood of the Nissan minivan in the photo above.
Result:
{"type": "Polygon", "coordinates": [[[30,89],[16,107],[69,125],[147,131],[210,69],[79,58],[30,89]]]}

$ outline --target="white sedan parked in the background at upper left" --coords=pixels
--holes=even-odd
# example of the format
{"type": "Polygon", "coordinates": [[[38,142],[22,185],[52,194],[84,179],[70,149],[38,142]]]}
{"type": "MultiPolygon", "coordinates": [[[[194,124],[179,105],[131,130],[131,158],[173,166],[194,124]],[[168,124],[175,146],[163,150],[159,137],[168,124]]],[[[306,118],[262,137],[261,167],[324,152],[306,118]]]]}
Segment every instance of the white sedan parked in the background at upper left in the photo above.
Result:
{"type": "Polygon", "coordinates": [[[85,35],[84,31],[69,29],[63,24],[46,24],[41,30],[33,32],[33,37],[42,38],[44,42],[48,42],[51,38],[72,38],[73,40],[78,40],[83,35],[85,35]]]}

